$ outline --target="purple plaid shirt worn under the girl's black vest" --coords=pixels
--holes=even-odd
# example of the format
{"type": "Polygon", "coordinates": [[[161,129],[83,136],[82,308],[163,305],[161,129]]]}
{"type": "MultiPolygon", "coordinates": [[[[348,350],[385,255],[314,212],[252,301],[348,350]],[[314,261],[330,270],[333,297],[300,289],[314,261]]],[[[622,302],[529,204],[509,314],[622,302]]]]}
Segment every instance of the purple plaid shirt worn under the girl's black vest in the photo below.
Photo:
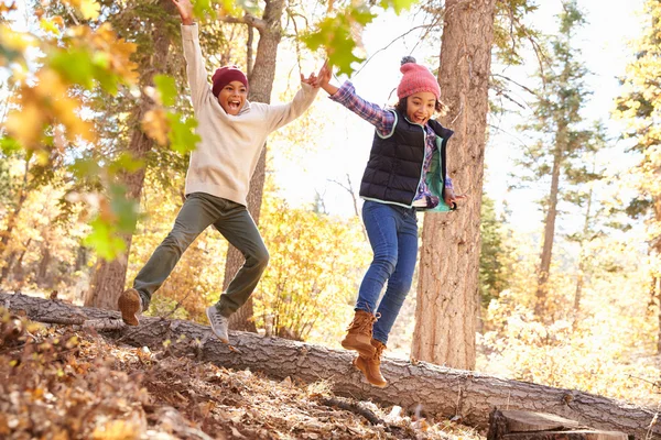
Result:
{"type": "MultiPolygon", "coordinates": [[[[342,103],[347,109],[351,110],[354,113],[375,125],[379,134],[386,136],[392,132],[392,127],[394,125],[394,113],[389,110],[383,110],[376,103],[368,102],[360,98],[358,95],[356,95],[356,88],[350,81],[345,81],[337,92],[329,96],[329,98],[342,103]]],[[[426,143],[423,167],[424,172],[426,173],[430,169],[434,151],[436,151],[436,133],[429,124],[424,125],[424,131],[426,134],[426,143]]],[[[452,179],[447,175],[445,175],[445,187],[453,189],[452,179]]],[[[427,189],[426,183],[424,179],[421,179],[414,200],[420,200],[425,196],[431,197],[431,195],[432,194],[427,189]]]]}

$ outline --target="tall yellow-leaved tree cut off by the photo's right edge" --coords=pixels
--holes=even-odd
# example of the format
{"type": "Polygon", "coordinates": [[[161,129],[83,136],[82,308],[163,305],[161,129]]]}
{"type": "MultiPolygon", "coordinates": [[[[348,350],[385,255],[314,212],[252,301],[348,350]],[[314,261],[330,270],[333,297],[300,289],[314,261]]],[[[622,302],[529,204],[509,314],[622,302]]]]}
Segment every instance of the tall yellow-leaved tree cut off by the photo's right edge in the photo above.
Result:
{"type": "Polygon", "coordinates": [[[648,224],[650,294],[658,307],[657,350],[661,353],[661,2],[648,0],[644,11],[648,25],[622,80],[625,92],[617,99],[616,114],[629,123],[626,135],[636,140],[632,148],[640,155],[630,172],[638,195],[627,212],[648,224]]]}

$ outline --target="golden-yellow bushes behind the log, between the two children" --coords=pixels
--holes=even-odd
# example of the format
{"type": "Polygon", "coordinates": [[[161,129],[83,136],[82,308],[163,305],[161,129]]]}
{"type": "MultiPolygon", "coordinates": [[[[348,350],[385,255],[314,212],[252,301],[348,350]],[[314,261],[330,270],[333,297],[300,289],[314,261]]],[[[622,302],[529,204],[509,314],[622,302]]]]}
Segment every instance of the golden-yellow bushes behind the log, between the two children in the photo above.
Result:
{"type": "Polygon", "coordinates": [[[272,196],[261,216],[271,260],[256,292],[258,326],[297,340],[338,339],[370,255],[360,223],[292,209],[272,196]]]}

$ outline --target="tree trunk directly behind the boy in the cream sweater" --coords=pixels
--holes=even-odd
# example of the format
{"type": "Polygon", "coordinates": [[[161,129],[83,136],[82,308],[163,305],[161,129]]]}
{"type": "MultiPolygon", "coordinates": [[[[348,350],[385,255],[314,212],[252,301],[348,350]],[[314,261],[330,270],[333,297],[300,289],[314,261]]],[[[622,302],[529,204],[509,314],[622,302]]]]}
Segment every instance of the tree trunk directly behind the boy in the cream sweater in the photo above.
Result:
{"type": "MultiPolygon", "coordinates": [[[[259,31],[259,43],[257,45],[257,56],[254,64],[250,68],[248,99],[256,102],[271,102],[271,90],[273,89],[273,79],[275,78],[275,61],[278,56],[278,45],[282,38],[282,12],[284,10],[284,0],[268,0],[264,14],[259,31]]],[[[250,25],[250,24],[249,24],[250,25]]],[[[264,179],[267,169],[267,145],[262,147],[257,168],[250,180],[250,191],[248,193],[248,210],[252,219],[259,224],[259,215],[261,211],[261,199],[264,191],[264,179]]],[[[236,273],[243,265],[246,258],[234,246],[227,251],[225,262],[225,279],[223,289],[225,290],[236,273]]],[[[235,330],[256,331],[252,320],[252,297],[229,318],[229,328],[235,330]]]]}

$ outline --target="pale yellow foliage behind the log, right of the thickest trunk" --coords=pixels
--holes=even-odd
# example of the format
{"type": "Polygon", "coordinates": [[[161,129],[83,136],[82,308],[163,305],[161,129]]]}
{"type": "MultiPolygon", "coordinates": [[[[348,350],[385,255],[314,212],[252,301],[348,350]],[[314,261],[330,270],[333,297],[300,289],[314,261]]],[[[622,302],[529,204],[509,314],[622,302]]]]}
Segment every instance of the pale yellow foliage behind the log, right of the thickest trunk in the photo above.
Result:
{"type": "MultiPolygon", "coordinates": [[[[520,252],[525,240],[518,240],[520,252]]],[[[631,233],[621,241],[590,243],[579,310],[573,308],[575,277],[553,268],[549,324],[533,314],[535,246],[520,253],[516,264],[524,271],[512,272],[512,288],[500,293],[483,317],[487,331],[478,336],[477,370],[655,405],[653,383],[660,371],[651,354],[658,328],[648,299],[650,266],[641,260],[638,242],[631,233]]]]}

